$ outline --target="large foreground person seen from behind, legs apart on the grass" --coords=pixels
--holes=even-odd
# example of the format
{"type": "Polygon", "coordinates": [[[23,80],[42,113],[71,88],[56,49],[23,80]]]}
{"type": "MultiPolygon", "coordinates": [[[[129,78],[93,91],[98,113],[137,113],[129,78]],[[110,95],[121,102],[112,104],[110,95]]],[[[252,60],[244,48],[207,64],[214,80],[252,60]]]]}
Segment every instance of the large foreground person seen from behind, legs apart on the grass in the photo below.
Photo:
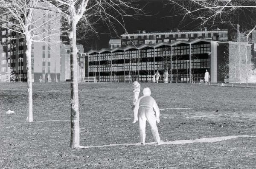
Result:
{"type": "Polygon", "coordinates": [[[140,128],[140,143],[145,144],[146,138],[146,121],[148,121],[151,132],[154,137],[154,141],[157,144],[160,144],[160,137],[157,130],[157,123],[160,122],[159,115],[160,111],[157,106],[157,102],[154,100],[151,95],[151,90],[146,87],[143,90],[143,96],[137,101],[134,108],[134,123],[139,120],[139,128],[140,128]],[[154,111],[156,116],[154,115],[154,111]]]}

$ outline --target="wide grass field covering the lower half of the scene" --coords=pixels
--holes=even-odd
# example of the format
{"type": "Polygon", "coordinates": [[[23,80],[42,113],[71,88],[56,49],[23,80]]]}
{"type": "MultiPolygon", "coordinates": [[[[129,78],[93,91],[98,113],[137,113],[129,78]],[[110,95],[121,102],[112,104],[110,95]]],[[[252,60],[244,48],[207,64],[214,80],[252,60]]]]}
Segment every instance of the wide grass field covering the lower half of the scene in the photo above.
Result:
{"type": "MultiPolygon", "coordinates": [[[[256,167],[254,137],[70,149],[70,83],[33,85],[32,123],[26,122],[26,87],[25,83],[0,83],[0,168],[256,167]],[[7,110],[15,113],[6,114],[7,110]]],[[[256,136],[256,89],[142,83],[144,87],[151,88],[161,109],[157,125],[163,141],[256,136]]],[[[139,143],[131,104],[131,84],[79,84],[80,144],[139,143]]],[[[146,134],[146,142],[152,142],[148,124],[146,134]]]]}

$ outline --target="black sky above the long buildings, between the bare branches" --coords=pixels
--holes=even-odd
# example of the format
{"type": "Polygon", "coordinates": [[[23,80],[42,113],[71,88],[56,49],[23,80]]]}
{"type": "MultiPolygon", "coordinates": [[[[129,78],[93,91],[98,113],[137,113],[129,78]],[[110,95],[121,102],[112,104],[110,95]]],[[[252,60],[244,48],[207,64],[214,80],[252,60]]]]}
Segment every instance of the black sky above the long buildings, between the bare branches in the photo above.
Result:
{"type": "MultiPolygon", "coordinates": [[[[179,30],[195,30],[197,28],[207,28],[215,29],[217,26],[211,25],[200,25],[197,20],[191,20],[190,18],[185,18],[182,21],[183,16],[168,17],[174,16],[177,14],[177,11],[174,10],[172,5],[166,5],[165,2],[161,0],[140,0],[138,1],[139,6],[145,6],[144,12],[145,16],[141,15],[140,17],[125,18],[125,27],[128,33],[134,33],[136,30],[145,30],[148,31],[167,31],[170,29],[178,28],[179,30]]],[[[241,14],[239,14],[240,16],[241,14]]],[[[246,17],[247,12],[243,12],[242,15],[246,17]]],[[[236,18],[235,15],[232,17],[236,18]]],[[[232,18],[230,18],[231,20],[232,18]]],[[[243,22],[244,19],[240,20],[243,22]]],[[[243,23],[241,23],[243,24],[243,23]]],[[[90,39],[80,40],[79,43],[84,46],[84,52],[89,51],[90,49],[101,49],[108,48],[109,39],[119,39],[119,35],[125,32],[124,28],[120,25],[115,26],[117,34],[110,33],[110,30],[105,25],[100,25],[96,28],[98,32],[98,37],[93,34],[90,39]]],[[[226,24],[218,25],[218,28],[227,28],[226,24]]]]}

